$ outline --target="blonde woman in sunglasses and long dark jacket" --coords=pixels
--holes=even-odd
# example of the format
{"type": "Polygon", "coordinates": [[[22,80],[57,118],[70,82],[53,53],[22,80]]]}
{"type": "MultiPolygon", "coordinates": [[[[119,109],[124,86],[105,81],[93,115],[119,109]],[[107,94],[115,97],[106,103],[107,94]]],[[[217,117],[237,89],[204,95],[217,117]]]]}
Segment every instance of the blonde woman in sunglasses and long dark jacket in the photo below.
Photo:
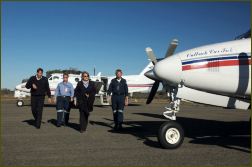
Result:
{"type": "Polygon", "coordinates": [[[80,132],[83,133],[87,129],[89,112],[93,111],[96,88],[94,82],[89,80],[88,72],[84,71],[81,78],[74,90],[74,96],[80,111],[80,132]]]}

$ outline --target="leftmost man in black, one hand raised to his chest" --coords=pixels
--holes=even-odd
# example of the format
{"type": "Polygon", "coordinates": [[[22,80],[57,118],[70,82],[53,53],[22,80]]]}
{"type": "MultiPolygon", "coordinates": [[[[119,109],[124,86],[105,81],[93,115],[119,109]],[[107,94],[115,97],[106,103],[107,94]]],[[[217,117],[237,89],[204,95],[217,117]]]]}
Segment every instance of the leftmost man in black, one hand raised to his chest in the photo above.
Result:
{"type": "Polygon", "coordinates": [[[35,119],[35,126],[37,129],[39,129],[42,120],[42,112],[46,93],[48,96],[48,102],[51,103],[51,91],[49,88],[48,79],[43,76],[42,68],[37,69],[37,74],[30,77],[25,87],[27,89],[31,89],[31,110],[35,119]]]}

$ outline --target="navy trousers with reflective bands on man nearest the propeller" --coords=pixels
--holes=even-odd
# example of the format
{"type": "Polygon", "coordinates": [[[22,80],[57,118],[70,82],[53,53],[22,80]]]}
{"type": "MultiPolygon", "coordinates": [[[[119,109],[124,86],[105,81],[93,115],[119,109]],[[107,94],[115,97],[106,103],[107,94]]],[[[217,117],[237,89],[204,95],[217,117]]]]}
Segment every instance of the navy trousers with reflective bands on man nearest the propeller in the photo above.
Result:
{"type": "Polygon", "coordinates": [[[123,110],[125,105],[124,95],[113,95],[112,96],[112,110],[115,125],[123,123],[123,110]]]}

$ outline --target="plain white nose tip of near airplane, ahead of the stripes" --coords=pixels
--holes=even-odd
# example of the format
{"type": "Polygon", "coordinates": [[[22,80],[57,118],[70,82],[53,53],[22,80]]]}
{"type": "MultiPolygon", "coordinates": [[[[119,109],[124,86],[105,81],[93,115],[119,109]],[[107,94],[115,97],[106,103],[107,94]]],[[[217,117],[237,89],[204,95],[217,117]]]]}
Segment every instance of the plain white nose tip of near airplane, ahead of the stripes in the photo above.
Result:
{"type": "Polygon", "coordinates": [[[165,81],[179,84],[182,80],[182,64],[178,56],[173,55],[155,64],[154,74],[165,81]]]}

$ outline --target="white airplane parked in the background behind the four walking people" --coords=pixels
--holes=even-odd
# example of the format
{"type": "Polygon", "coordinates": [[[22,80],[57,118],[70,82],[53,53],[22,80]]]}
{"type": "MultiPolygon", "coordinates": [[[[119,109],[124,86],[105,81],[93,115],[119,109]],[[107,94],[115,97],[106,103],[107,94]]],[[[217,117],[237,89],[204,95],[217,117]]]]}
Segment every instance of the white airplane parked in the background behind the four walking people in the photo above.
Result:
{"type": "MultiPolygon", "coordinates": [[[[149,93],[151,87],[154,83],[153,80],[146,77],[144,74],[151,70],[154,65],[150,62],[138,75],[124,75],[123,78],[126,79],[128,88],[129,88],[129,95],[130,97],[133,96],[133,93],[140,92],[140,93],[149,93]]],[[[102,76],[101,72],[99,72],[95,76],[90,76],[90,79],[95,82],[97,92],[96,97],[100,97],[101,105],[109,105],[109,101],[107,100],[107,90],[111,80],[115,78],[115,76],[102,76]]],[[[69,74],[69,82],[73,84],[74,88],[76,87],[78,81],[81,80],[81,74],[69,74]]],[[[53,73],[48,78],[49,87],[51,90],[51,94],[55,94],[55,89],[59,82],[63,81],[63,74],[62,73],[53,73]]],[[[15,87],[14,97],[17,98],[17,106],[22,107],[24,105],[23,98],[30,96],[30,89],[25,87],[26,82],[21,83],[15,87]]],[[[161,90],[160,87],[159,90],[161,90]]]]}

